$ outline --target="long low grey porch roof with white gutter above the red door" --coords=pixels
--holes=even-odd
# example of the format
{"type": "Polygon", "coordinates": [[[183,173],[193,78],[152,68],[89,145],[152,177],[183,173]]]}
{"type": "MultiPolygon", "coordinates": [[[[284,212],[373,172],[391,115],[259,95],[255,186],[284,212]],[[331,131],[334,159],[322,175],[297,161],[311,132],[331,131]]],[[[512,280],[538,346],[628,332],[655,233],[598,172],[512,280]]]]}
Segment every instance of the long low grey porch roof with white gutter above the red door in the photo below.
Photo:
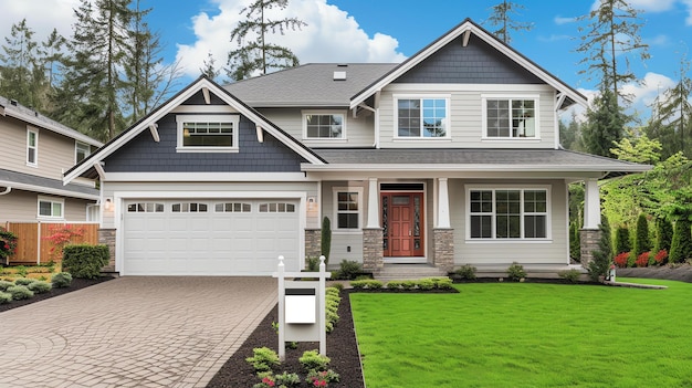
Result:
{"type": "Polygon", "coordinates": [[[566,149],[315,149],[327,160],[303,166],[306,171],[346,170],[460,170],[460,171],[604,171],[642,172],[651,166],[566,149]]]}

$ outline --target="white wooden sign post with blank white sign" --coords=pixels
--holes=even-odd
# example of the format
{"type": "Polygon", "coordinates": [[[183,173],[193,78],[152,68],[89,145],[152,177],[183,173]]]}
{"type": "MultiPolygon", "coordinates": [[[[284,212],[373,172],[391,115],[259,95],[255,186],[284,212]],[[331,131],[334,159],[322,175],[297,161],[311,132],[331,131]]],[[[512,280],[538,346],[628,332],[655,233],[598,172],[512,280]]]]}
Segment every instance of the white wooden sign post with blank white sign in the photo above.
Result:
{"type": "Polygon", "coordinates": [[[285,272],[279,256],[279,358],[286,357],[286,342],[319,342],[319,354],[327,354],[325,256],[319,256],[319,272],[285,272]],[[292,281],[286,277],[316,277],[317,281],[292,281]]]}

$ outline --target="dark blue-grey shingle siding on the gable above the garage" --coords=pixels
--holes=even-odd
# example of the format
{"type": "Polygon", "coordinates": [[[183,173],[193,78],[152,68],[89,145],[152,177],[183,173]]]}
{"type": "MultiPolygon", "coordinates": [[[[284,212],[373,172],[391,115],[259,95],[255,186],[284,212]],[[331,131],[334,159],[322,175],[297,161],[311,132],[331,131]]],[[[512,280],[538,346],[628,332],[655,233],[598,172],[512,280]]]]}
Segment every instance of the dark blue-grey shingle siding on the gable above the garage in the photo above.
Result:
{"type": "Polygon", "coordinates": [[[259,143],[254,124],[244,116],[238,153],[177,153],[175,114],[158,122],[158,132],[160,143],[147,129],[106,158],[106,172],[295,172],[304,161],[266,132],[259,143]]]}

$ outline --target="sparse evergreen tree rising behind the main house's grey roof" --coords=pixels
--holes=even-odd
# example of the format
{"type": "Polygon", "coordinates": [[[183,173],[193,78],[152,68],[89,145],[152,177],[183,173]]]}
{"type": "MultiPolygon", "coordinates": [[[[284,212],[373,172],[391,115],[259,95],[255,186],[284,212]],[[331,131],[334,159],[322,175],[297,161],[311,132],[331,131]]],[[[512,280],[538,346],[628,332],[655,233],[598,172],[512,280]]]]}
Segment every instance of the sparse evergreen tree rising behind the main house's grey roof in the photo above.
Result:
{"type": "Polygon", "coordinates": [[[284,18],[271,20],[265,11],[273,8],[284,10],[289,0],[253,0],[252,3],[241,10],[245,20],[238,23],[231,31],[231,42],[235,42],[239,49],[233,50],[228,56],[228,76],[233,81],[248,78],[255,72],[268,74],[272,70],[287,69],[298,65],[298,59],[287,48],[268,42],[266,35],[280,32],[284,34],[287,29],[301,29],[307,25],[297,18],[284,18]],[[249,39],[255,39],[249,41],[249,39]]]}

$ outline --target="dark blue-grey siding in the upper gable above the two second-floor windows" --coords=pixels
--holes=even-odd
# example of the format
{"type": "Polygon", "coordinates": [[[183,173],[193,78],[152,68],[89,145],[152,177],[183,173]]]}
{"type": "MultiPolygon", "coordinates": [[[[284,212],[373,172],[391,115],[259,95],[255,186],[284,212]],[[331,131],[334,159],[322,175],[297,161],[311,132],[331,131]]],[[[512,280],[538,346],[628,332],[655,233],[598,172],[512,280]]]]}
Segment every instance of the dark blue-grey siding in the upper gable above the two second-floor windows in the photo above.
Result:
{"type": "Polygon", "coordinates": [[[543,84],[537,76],[472,35],[458,38],[394,83],[543,84]]]}

